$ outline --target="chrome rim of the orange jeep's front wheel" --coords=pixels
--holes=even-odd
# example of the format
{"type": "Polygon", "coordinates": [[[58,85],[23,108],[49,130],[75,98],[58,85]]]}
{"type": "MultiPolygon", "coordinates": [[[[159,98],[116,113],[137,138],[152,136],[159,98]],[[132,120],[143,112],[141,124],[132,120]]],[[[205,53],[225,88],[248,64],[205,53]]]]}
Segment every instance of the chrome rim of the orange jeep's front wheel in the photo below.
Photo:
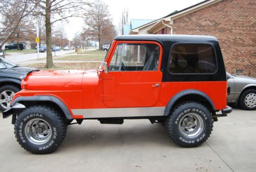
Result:
{"type": "Polygon", "coordinates": [[[43,119],[31,119],[25,126],[25,136],[33,144],[45,144],[52,136],[52,129],[43,119]]]}

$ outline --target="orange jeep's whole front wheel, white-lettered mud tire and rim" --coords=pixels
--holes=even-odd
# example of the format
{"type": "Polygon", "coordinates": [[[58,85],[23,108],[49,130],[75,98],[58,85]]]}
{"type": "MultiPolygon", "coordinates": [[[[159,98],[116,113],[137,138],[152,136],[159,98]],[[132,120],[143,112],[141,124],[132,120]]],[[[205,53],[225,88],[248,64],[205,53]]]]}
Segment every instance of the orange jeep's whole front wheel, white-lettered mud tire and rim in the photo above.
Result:
{"type": "Polygon", "coordinates": [[[14,124],[14,134],[17,142],[28,152],[33,154],[49,154],[56,150],[65,139],[67,125],[61,114],[52,107],[45,105],[34,105],[22,111],[14,124]],[[32,123],[38,121],[37,123],[32,123]],[[30,125],[31,124],[31,125],[30,125]],[[45,124],[40,126],[41,124],[45,124]],[[36,126],[40,126],[36,128],[36,126]],[[32,127],[31,127],[32,126],[32,127]],[[46,127],[48,126],[48,127],[46,127]],[[30,130],[30,128],[34,128],[30,130]],[[42,129],[43,128],[43,129],[42,129]],[[48,128],[48,130],[46,129],[48,128]],[[49,131],[48,135],[42,135],[41,131],[49,131]],[[37,132],[41,133],[37,133],[37,132]],[[51,131],[51,132],[50,132],[51,131]],[[41,135],[40,135],[41,134],[41,135]],[[47,137],[44,142],[38,144],[36,136],[47,137]]]}

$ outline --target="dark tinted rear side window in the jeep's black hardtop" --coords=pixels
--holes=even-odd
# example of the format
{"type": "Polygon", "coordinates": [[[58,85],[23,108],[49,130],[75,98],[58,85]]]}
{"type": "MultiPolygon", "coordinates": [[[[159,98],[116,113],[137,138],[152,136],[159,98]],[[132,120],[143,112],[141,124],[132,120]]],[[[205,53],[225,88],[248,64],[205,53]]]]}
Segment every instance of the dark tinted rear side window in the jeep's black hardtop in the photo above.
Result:
{"type": "Polygon", "coordinates": [[[171,73],[215,73],[214,48],[208,44],[177,44],[170,54],[171,73]]]}

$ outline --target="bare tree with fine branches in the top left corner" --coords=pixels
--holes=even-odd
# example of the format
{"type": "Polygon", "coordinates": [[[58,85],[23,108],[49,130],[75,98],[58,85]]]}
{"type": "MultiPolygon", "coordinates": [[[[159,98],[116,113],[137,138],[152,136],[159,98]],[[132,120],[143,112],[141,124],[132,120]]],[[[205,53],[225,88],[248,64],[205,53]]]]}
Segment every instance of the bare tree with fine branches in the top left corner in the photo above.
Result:
{"type": "MultiPolygon", "coordinates": [[[[25,17],[31,14],[39,2],[39,0],[36,0],[33,1],[33,4],[31,4],[31,0],[0,1],[0,15],[2,17],[0,21],[0,33],[6,33],[6,38],[1,42],[0,49],[2,49],[5,42],[15,33],[17,34],[17,37],[19,36],[20,24],[23,22],[25,17]]],[[[18,44],[17,49],[19,49],[18,44]]]]}

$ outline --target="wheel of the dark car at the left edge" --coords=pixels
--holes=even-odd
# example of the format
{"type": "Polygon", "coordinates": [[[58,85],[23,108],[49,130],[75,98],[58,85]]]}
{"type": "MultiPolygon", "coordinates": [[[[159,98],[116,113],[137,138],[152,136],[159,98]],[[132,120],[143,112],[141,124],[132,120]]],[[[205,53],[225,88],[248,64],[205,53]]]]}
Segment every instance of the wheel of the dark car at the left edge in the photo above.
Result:
{"type": "Polygon", "coordinates": [[[2,112],[10,108],[12,97],[18,91],[20,89],[14,85],[5,85],[0,88],[0,110],[2,112]]]}

